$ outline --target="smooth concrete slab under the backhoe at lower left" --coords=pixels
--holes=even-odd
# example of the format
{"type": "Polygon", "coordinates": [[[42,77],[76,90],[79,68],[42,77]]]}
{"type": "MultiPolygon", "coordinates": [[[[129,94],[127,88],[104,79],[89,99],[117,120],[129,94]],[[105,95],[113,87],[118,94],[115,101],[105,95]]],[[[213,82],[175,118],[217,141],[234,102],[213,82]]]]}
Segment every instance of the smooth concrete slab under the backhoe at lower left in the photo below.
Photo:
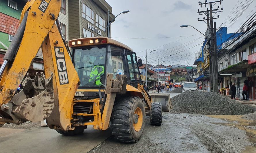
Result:
{"type": "MultiPolygon", "coordinates": [[[[92,127],[85,129],[83,135],[75,136],[63,136],[49,127],[13,130],[14,133],[0,137],[1,152],[88,152],[111,135],[110,129],[99,131],[92,127]]],[[[6,132],[6,128],[0,128],[0,133],[6,132]]]]}

